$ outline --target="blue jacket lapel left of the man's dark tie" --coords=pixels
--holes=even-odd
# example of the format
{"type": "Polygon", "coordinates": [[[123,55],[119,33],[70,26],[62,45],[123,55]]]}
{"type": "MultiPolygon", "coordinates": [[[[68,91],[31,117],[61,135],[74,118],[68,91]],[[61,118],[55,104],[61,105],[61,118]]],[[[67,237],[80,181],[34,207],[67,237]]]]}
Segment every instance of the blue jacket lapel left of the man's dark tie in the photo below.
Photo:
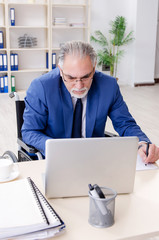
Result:
{"type": "Polygon", "coordinates": [[[62,80],[61,80],[61,99],[62,99],[62,108],[63,108],[65,137],[70,138],[72,134],[72,124],[73,124],[73,104],[72,104],[71,95],[68,92],[62,80]]]}

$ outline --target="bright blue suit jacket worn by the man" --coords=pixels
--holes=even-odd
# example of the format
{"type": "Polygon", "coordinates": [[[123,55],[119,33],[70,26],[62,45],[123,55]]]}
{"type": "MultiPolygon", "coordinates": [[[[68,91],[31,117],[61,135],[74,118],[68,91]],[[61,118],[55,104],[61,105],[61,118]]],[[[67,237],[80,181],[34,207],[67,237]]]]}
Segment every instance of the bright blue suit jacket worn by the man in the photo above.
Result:
{"type": "MultiPolygon", "coordinates": [[[[23,140],[45,155],[45,141],[71,138],[73,104],[59,69],[35,79],[25,98],[23,140]]],[[[116,79],[96,71],[88,92],[86,137],[104,137],[107,117],[120,136],[138,136],[149,141],[128,111],[116,79]]]]}

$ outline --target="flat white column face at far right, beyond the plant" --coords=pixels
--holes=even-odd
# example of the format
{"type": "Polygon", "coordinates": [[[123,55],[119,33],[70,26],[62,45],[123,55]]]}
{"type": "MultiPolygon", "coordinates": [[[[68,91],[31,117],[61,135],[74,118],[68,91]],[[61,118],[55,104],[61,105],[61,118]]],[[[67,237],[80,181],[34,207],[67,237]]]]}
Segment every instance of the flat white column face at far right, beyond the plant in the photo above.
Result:
{"type": "Polygon", "coordinates": [[[158,0],[137,1],[135,83],[153,83],[158,0]]]}

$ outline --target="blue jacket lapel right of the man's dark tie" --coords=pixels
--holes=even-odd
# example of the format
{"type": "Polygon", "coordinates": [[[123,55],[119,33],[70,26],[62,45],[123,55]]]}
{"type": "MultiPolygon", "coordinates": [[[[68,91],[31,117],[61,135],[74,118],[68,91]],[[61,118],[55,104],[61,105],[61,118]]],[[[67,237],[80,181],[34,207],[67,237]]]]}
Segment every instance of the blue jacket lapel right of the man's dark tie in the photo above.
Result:
{"type": "Polygon", "coordinates": [[[99,100],[99,97],[97,94],[95,81],[93,81],[87,97],[86,137],[92,137],[92,134],[93,134],[93,129],[94,129],[96,115],[97,115],[98,100],[99,100]]]}

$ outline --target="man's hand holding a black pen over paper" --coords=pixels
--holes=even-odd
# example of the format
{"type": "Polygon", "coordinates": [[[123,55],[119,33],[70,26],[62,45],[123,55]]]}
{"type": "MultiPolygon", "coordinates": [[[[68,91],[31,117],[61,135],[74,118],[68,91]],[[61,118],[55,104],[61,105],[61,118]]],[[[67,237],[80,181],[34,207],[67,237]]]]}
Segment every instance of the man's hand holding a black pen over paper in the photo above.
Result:
{"type": "Polygon", "coordinates": [[[145,164],[154,163],[159,159],[159,147],[157,147],[155,144],[149,145],[148,156],[146,156],[147,143],[141,143],[139,146],[140,145],[142,145],[142,147],[139,148],[138,154],[145,164]]]}

